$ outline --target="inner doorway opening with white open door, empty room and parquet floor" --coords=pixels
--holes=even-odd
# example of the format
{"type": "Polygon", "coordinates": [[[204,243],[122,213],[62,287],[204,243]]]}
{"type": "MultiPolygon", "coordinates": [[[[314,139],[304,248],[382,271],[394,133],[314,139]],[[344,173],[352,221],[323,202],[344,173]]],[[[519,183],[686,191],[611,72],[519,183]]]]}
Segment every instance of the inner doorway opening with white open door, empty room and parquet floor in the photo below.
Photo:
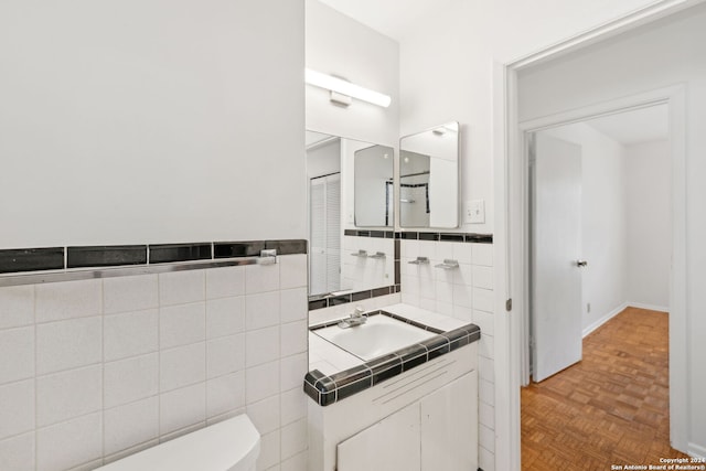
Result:
{"type": "Polygon", "coordinates": [[[522,469],[561,468],[571,456],[596,467],[685,457],[670,447],[668,433],[668,105],[527,126],[525,135],[531,268],[523,383],[530,375],[549,379],[522,392],[522,469]],[[582,346],[586,363],[575,365],[582,346]]]}

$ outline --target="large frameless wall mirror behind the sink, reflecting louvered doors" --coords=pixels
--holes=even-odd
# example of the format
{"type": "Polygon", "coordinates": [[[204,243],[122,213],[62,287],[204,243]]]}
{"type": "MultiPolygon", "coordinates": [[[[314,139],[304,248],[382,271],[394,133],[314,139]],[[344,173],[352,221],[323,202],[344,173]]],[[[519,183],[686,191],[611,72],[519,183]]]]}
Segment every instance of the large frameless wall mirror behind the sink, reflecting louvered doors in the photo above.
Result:
{"type": "Polygon", "coordinates": [[[314,131],[306,144],[310,298],[394,285],[394,150],[314,131]]]}

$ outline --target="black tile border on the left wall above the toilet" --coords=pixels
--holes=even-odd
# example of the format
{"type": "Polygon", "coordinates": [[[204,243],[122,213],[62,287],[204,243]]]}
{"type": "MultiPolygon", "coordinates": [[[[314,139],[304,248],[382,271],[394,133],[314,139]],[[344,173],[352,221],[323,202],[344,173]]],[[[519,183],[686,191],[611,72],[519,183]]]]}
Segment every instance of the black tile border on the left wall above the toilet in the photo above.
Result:
{"type": "MultiPolygon", "coordinates": [[[[69,274],[82,272],[57,270],[81,268],[87,271],[106,267],[127,269],[185,261],[221,261],[226,258],[258,257],[260,249],[276,249],[277,255],[306,255],[308,251],[307,240],[303,239],[0,249],[0,274],[3,274],[0,286],[62,281],[58,279],[62,275],[68,277],[69,274]],[[42,272],[47,272],[47,276],[42,278],[42,272]],[[42,279],[34,281],[31,275],[42,279]],[[11,278],[15,280],[10,281],[11,278]]],[[[111,276],[121,275],[114,272],[111,276]]],[[[94,278],[100,276],[95,275],[94,278]]]]}

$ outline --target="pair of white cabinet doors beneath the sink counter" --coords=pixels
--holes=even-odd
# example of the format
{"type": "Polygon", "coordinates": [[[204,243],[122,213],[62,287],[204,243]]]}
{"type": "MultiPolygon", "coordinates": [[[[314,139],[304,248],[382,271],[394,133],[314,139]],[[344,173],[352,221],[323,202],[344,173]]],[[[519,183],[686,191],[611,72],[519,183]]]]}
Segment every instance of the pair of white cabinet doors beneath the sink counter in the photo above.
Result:
{"type": "Polygon", "coordinates": [[[478,372],[395,411],[336,447],[338,471],[478,469],[478,372]]]}

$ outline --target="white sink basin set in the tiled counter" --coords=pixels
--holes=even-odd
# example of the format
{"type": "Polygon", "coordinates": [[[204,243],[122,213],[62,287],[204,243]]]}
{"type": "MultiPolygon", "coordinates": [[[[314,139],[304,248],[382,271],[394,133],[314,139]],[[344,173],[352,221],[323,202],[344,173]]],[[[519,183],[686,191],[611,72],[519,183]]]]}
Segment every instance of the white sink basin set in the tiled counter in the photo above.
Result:
{"type": "Polygon", "coordinates": [[[371,315],[362,325],[341,329],[332,325],[312,331],[339,347],[364,360],[404,349],[436,334],[384,314],[371,315]]]}

